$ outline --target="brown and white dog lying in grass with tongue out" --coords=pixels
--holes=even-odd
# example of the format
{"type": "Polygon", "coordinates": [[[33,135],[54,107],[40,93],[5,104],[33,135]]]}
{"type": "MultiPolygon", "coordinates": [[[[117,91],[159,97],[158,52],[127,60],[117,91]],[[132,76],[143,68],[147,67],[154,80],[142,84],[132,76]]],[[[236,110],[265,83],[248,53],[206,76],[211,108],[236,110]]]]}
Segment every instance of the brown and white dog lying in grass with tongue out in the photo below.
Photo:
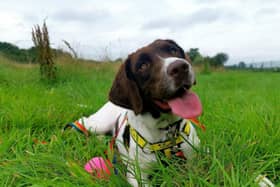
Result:
{"type": "Polygon", "coordinates": [[[184,50],[173,40],[155,40],[130,54],[113,81],[109,101],[95,114],[77,123],[87,130],[112,132],[123,161],[127,180],[138,186],[133,163],[141,178],[157,161],[157,153],[191,158],[199,138],[191,118],[202,113],[198,96],[190,91],[195,73],[184,50]]]}

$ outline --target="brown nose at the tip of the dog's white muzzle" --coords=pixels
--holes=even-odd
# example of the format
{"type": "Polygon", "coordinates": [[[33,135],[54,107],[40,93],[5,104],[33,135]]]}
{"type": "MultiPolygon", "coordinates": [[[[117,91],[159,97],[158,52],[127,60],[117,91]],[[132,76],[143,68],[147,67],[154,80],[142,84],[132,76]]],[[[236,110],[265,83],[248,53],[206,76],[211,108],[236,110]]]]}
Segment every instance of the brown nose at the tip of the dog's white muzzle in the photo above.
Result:
{"type": "Polygon", "coordinates": [[[167,74],[174,78],[182,77],[187,74],[188,71],[189,65],[181,60],[176,60],[167,67],[167,74]]]}

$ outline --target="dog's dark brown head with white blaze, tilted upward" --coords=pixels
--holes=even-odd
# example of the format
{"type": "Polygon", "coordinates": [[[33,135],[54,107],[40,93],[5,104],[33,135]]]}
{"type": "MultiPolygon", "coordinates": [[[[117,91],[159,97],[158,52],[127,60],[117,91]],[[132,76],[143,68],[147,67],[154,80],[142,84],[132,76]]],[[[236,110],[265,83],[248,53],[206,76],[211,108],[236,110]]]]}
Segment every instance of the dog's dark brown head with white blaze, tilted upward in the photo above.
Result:
{"type": "Polygon", "coordinates": [[[116,75],[109,100],[135,114],[150,112],[158,117],[160,112],[174,111],[173,106],[180,110],[188,102],[199,104],[197,100],[178,100],[195,100],[188,91],[194,84],[195,74],[184,50],[172,40],[156,40],[128,56],[116,75]]]}

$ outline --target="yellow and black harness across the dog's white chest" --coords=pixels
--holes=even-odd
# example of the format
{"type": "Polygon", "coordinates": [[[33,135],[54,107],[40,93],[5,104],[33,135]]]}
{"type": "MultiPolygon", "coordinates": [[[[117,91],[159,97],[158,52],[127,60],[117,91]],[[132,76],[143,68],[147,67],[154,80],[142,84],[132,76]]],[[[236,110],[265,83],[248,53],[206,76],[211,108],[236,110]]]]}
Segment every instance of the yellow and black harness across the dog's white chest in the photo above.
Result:
{"type": "Polygon", "coordinates": [[[186,120],[186,123],[182,128],[181,133],[178,133],[178,135],[176,135],[173,140],[166,140],[158,143],[149,143],[145,138],[143,138],[143,136],[141,136],[141,134],[139,134],[139,132],[137,132],[131,126],[130,126],[130,135],[133,138],[133,140],[136,142],[136,144],[142,149],[146,148],[150,152],[163,151],[165,156],[170,158],[172,156],[172,148],[184,142],[184,137],[182,136],[182,133],[185,134],[186,136],[190,135],[190,129],[192,123],[193,123],[192,121],[186,120]]]}

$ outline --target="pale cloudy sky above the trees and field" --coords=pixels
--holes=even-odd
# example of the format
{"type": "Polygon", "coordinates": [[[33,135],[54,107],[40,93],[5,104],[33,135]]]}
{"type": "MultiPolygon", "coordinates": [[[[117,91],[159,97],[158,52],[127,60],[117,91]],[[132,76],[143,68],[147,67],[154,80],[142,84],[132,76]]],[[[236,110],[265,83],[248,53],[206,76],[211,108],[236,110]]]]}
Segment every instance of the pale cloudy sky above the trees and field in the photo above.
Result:
{"type": "Polygon", "coordinates": [[[0,41],[33,45],[46,21],[52,47],[82,58],[125,58],[155,39],[229,55],[227,64],[280,60],[280,0],[24,0],[0,2],[0,41]]]}

